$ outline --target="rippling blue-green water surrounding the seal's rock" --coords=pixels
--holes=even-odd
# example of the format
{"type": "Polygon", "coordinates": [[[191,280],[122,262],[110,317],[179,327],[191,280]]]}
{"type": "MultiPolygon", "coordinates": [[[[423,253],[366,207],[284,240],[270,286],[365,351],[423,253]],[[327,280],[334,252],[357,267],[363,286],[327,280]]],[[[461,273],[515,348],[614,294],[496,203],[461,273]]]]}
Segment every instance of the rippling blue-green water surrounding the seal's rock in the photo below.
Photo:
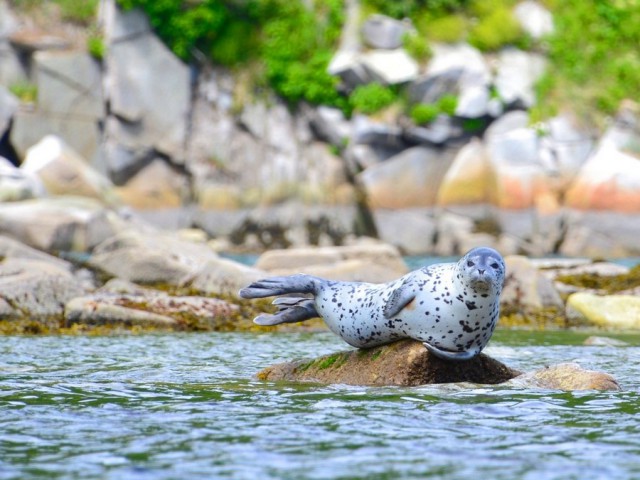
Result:
{"type": "Polygon", "coordinates": [[[640,478],[640,348],[584,337],[497,332],[487,352],[623,391],[254,380],[343,349],[329,333],[3,337],[0,479],[640,478]]]}

